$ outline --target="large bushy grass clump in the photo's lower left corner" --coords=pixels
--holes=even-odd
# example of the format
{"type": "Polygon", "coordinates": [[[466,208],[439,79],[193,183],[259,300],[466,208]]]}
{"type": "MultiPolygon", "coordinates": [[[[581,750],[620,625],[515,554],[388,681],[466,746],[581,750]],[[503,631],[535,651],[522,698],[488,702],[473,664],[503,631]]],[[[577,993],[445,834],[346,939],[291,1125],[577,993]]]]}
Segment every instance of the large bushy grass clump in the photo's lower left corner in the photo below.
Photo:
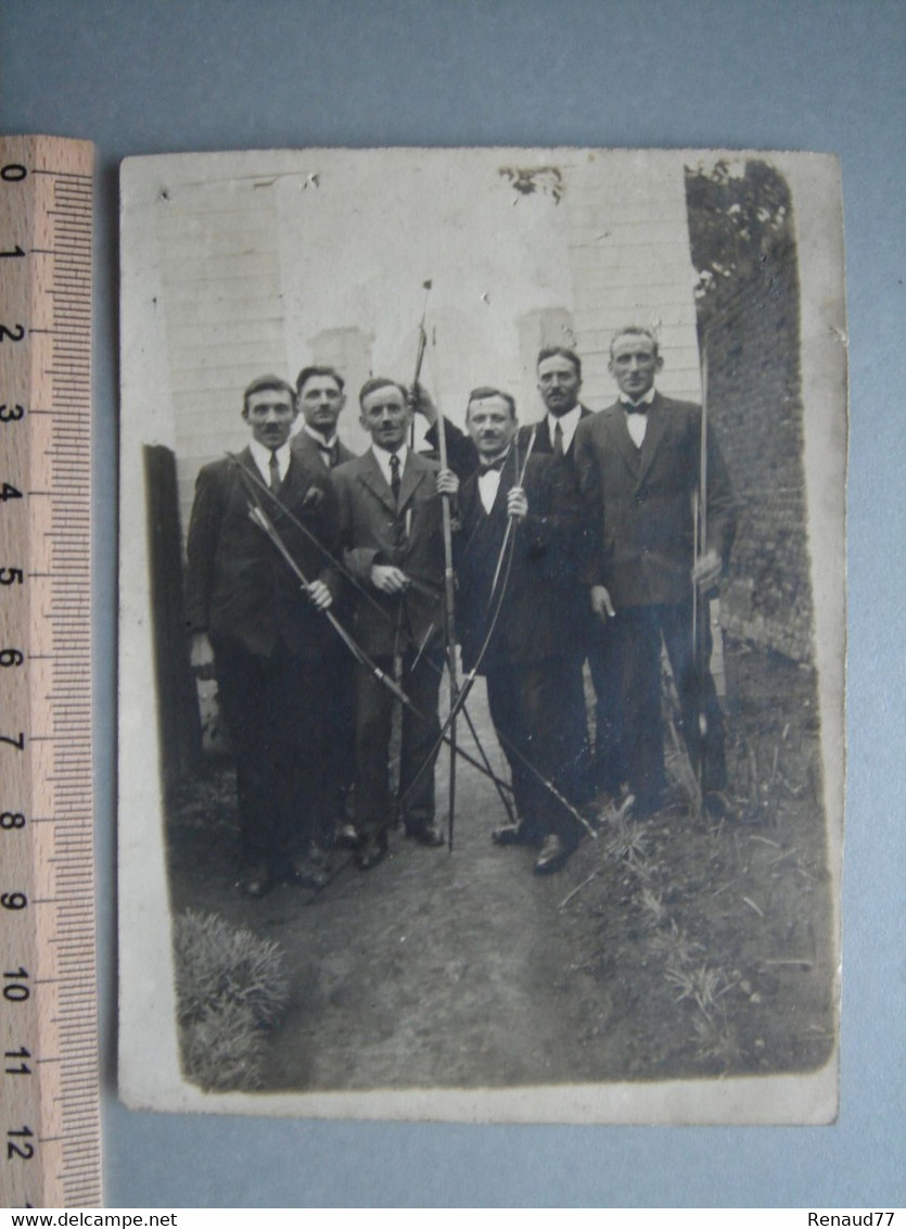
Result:
{"type": "Polygon", "coordinates": [[[257,1088],[264,1032],[290,1000],[279,945],[187,909],[174,921],[173,951],[187,1077],[211,1091],[257,1088]]]}

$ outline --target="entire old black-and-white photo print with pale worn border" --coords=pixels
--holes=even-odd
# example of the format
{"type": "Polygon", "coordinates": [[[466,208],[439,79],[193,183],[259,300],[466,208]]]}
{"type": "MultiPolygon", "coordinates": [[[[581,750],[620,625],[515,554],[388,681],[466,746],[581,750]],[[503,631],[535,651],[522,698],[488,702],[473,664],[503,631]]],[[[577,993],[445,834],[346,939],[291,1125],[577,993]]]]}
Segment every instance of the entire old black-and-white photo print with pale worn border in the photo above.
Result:
{"type": "Polygon", "coordinates": [[[827,155],[122,170],[120,1093],[830,1122],[827,155]]]}

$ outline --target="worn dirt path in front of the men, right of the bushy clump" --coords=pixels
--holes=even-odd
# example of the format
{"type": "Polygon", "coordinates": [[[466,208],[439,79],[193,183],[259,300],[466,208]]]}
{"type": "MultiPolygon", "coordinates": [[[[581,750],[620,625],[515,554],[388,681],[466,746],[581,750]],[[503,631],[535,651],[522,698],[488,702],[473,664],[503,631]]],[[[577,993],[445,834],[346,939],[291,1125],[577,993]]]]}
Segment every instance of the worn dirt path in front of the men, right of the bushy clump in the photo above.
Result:
{"type": "MultiPolygon", "coordinates": [[[[563,878],[489,839],[497,806],[467,769],[455,850],[414,846],[287,919],[300,995],[274,1042],[270,1086],[405,1088],[577,1078],[608,995],[576,993],[563,878]],[[485,809],[486,806],[486,809],[485,809]]],[[[438,794],[439,796],[439,794],[438,794]]],[[[593,1064],[592,1064],[593,1067],[593,1064]]]]}

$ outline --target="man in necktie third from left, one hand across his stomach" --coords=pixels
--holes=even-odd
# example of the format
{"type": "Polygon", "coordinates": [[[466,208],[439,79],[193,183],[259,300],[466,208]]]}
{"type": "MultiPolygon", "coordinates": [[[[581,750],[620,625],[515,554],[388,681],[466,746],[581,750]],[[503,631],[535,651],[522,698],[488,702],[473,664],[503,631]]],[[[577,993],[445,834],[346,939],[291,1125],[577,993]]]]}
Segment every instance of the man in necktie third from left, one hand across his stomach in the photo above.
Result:
{"type": "MultiPolygon", "coordinates": [[[[344,563],[358,584],[352,632],[368,656],[393,675],[421,717],[403,712],[400,795],[408,837],[443,844],[435,821],[433,753],[439,735],[437,701],[443,672],[443,530],[438,467],[406,444],[412,408],[393,380],[368,380],[360,393],[368,451],[331,472],[344,563]]],[[[447,471],[451,493],[455,477],[447,471]]],[[[370,870],[388,853],[393,800],[388,756],[393,697],[366,667],[357,667],[356,828],[358,865],[370,870]]]]}

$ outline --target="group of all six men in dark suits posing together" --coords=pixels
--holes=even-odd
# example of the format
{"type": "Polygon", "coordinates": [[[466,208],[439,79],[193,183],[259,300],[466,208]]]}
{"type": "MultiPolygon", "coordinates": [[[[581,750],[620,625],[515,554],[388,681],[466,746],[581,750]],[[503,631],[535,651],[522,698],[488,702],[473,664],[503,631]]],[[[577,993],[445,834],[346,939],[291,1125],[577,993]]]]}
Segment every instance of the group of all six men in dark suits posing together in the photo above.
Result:
{"type": "Polygon", "coordinates": [[[312,852],[338,833],[355,842],[363,870],[376,866],[395,817],[406,837],[443,843],[433,767],[444,499],[463,670],[485,676],[512,777],[516,817],[495,842],[538,847],[534,869],[550,874],[578,844],[578,809],[595,791],[631,793],[640,816],[659,807],[662,638],[707,805],[726,809],[722,718],[692,644],[692,595],[713,589],[726,567],[733,495],[707,430],[708,548],[697,556],[701,409],[657,391],[660,366],[651,332],[621,329],[610,353],[620,399],[593,413],[579,399],[578,355],[543,349],[543,422],[521,428],[506,391],[476,388],[467,431],[442,424],[446,468],[411,446],[414,413],[428,422],[428,444],[441,429],[421,388],[366,382],[360,422],[371,446],[355,457],[336,436],[345,396],[335,370],[306,367],[296,390],[275,377],[249,386],[249,446],[203,467],[188,537],[193,655],[215,659],[249,895],[280,879],[323,882],[312,852]],[[327,610],[354,638],[355,659],[327,610]],[[387,680],[406,697],[395,799],[387,680]]]}

